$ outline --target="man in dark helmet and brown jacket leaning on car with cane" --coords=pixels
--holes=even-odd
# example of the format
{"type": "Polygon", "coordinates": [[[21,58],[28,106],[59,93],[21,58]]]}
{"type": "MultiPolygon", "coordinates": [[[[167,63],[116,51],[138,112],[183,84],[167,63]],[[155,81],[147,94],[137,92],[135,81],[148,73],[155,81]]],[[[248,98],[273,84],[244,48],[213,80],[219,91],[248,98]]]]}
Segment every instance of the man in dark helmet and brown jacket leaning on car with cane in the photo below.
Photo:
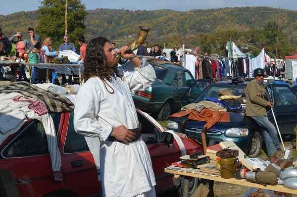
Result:
{"type": "Polygon", "coordinates": [[[273,106],[273,103],[266,100],[268,92],[263,84],[264,70],[256,68],[253,71],[254,79],[247,84],[246,115],[251,117],[261,128],[262,136],[267,149],[267,155],[280,155],[282,150],[277,136],[275,126],[268,120],[266,107],[273,106]]]}

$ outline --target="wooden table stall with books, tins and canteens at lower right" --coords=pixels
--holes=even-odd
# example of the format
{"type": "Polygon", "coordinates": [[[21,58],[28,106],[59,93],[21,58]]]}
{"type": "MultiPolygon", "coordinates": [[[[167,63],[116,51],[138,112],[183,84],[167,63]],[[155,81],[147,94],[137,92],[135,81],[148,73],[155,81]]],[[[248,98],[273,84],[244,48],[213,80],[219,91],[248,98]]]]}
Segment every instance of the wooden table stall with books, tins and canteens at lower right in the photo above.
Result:
{"type": "Polygon", "coordinates": [[[282,165],[279,162],[278,166],[259,158],[248,158],[231,141],[207,147],[205,154],[200,152],[180,158],[181,161],[172,163],[164,171],[174,174],[175,178],[184,176],[209,180],[212,182],[208,186],[209,192],[213,191],[213,181],[218,181],[297,195],[297,188],[293,189],[297,184],[297,169],[293,168],[292,163],[282,165]],[[288,185],[288,181],[291,185],[288,185]]]}

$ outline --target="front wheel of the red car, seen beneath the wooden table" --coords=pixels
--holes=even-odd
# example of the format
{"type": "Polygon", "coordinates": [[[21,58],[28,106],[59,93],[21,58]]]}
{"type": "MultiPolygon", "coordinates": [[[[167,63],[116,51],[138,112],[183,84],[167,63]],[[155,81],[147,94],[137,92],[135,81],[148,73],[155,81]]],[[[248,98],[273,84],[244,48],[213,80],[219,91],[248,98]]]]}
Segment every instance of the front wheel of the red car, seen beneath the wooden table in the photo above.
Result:
{"type": "Polygon", "coordinates": [[[194,177],[181,177],[181,184],[178,187],[179,197],[191,197],[199,185],[199,179],[194,177]]]}

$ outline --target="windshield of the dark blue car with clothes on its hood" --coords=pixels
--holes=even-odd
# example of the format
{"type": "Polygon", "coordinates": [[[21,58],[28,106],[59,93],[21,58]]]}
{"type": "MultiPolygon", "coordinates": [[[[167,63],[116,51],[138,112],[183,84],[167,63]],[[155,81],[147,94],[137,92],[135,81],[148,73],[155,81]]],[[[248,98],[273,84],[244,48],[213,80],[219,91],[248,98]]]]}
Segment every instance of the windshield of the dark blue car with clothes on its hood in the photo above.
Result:
{"type": "Polygon", "coordinates": [[[219,91],[226,90],[231,92],[234,96],[240,96],[244,92],[244,86],[210,86],[206,89],[195,101],[200,102],[205,98],[218,98],[219,91]]]}

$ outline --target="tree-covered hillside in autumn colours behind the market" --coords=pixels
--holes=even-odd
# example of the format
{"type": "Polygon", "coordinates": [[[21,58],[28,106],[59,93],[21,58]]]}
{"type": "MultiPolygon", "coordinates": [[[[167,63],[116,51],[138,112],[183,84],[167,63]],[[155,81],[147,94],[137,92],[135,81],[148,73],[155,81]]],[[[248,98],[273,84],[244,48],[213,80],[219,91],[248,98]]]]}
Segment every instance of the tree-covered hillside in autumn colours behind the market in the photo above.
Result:
{"type": "MultiPolygon", "coordinates": [[[[0,16],[0,26],[8,36],[17,31],[27,35],[29,26],[46,29],[40,21],[40,13],[29,11],[0,16]]],[[[271,7],[227,7],[184,12],[97,8],[87,11],[84,24],[87,39],[104,36],[121,46],[132,42],[139,26],[148,26],[151,28],[149,45],[156,43],[171,48],[175,44],[185,44],[187,48],[200,46],[203,52],[221,54],[224,54],[226,42],[230,39],[238,41],[236,44],[241,49],[254,54],[263,47],[275,53],[279,27],[278,54],[292,55],[297,51],[297,11],[271,7]]]]}

